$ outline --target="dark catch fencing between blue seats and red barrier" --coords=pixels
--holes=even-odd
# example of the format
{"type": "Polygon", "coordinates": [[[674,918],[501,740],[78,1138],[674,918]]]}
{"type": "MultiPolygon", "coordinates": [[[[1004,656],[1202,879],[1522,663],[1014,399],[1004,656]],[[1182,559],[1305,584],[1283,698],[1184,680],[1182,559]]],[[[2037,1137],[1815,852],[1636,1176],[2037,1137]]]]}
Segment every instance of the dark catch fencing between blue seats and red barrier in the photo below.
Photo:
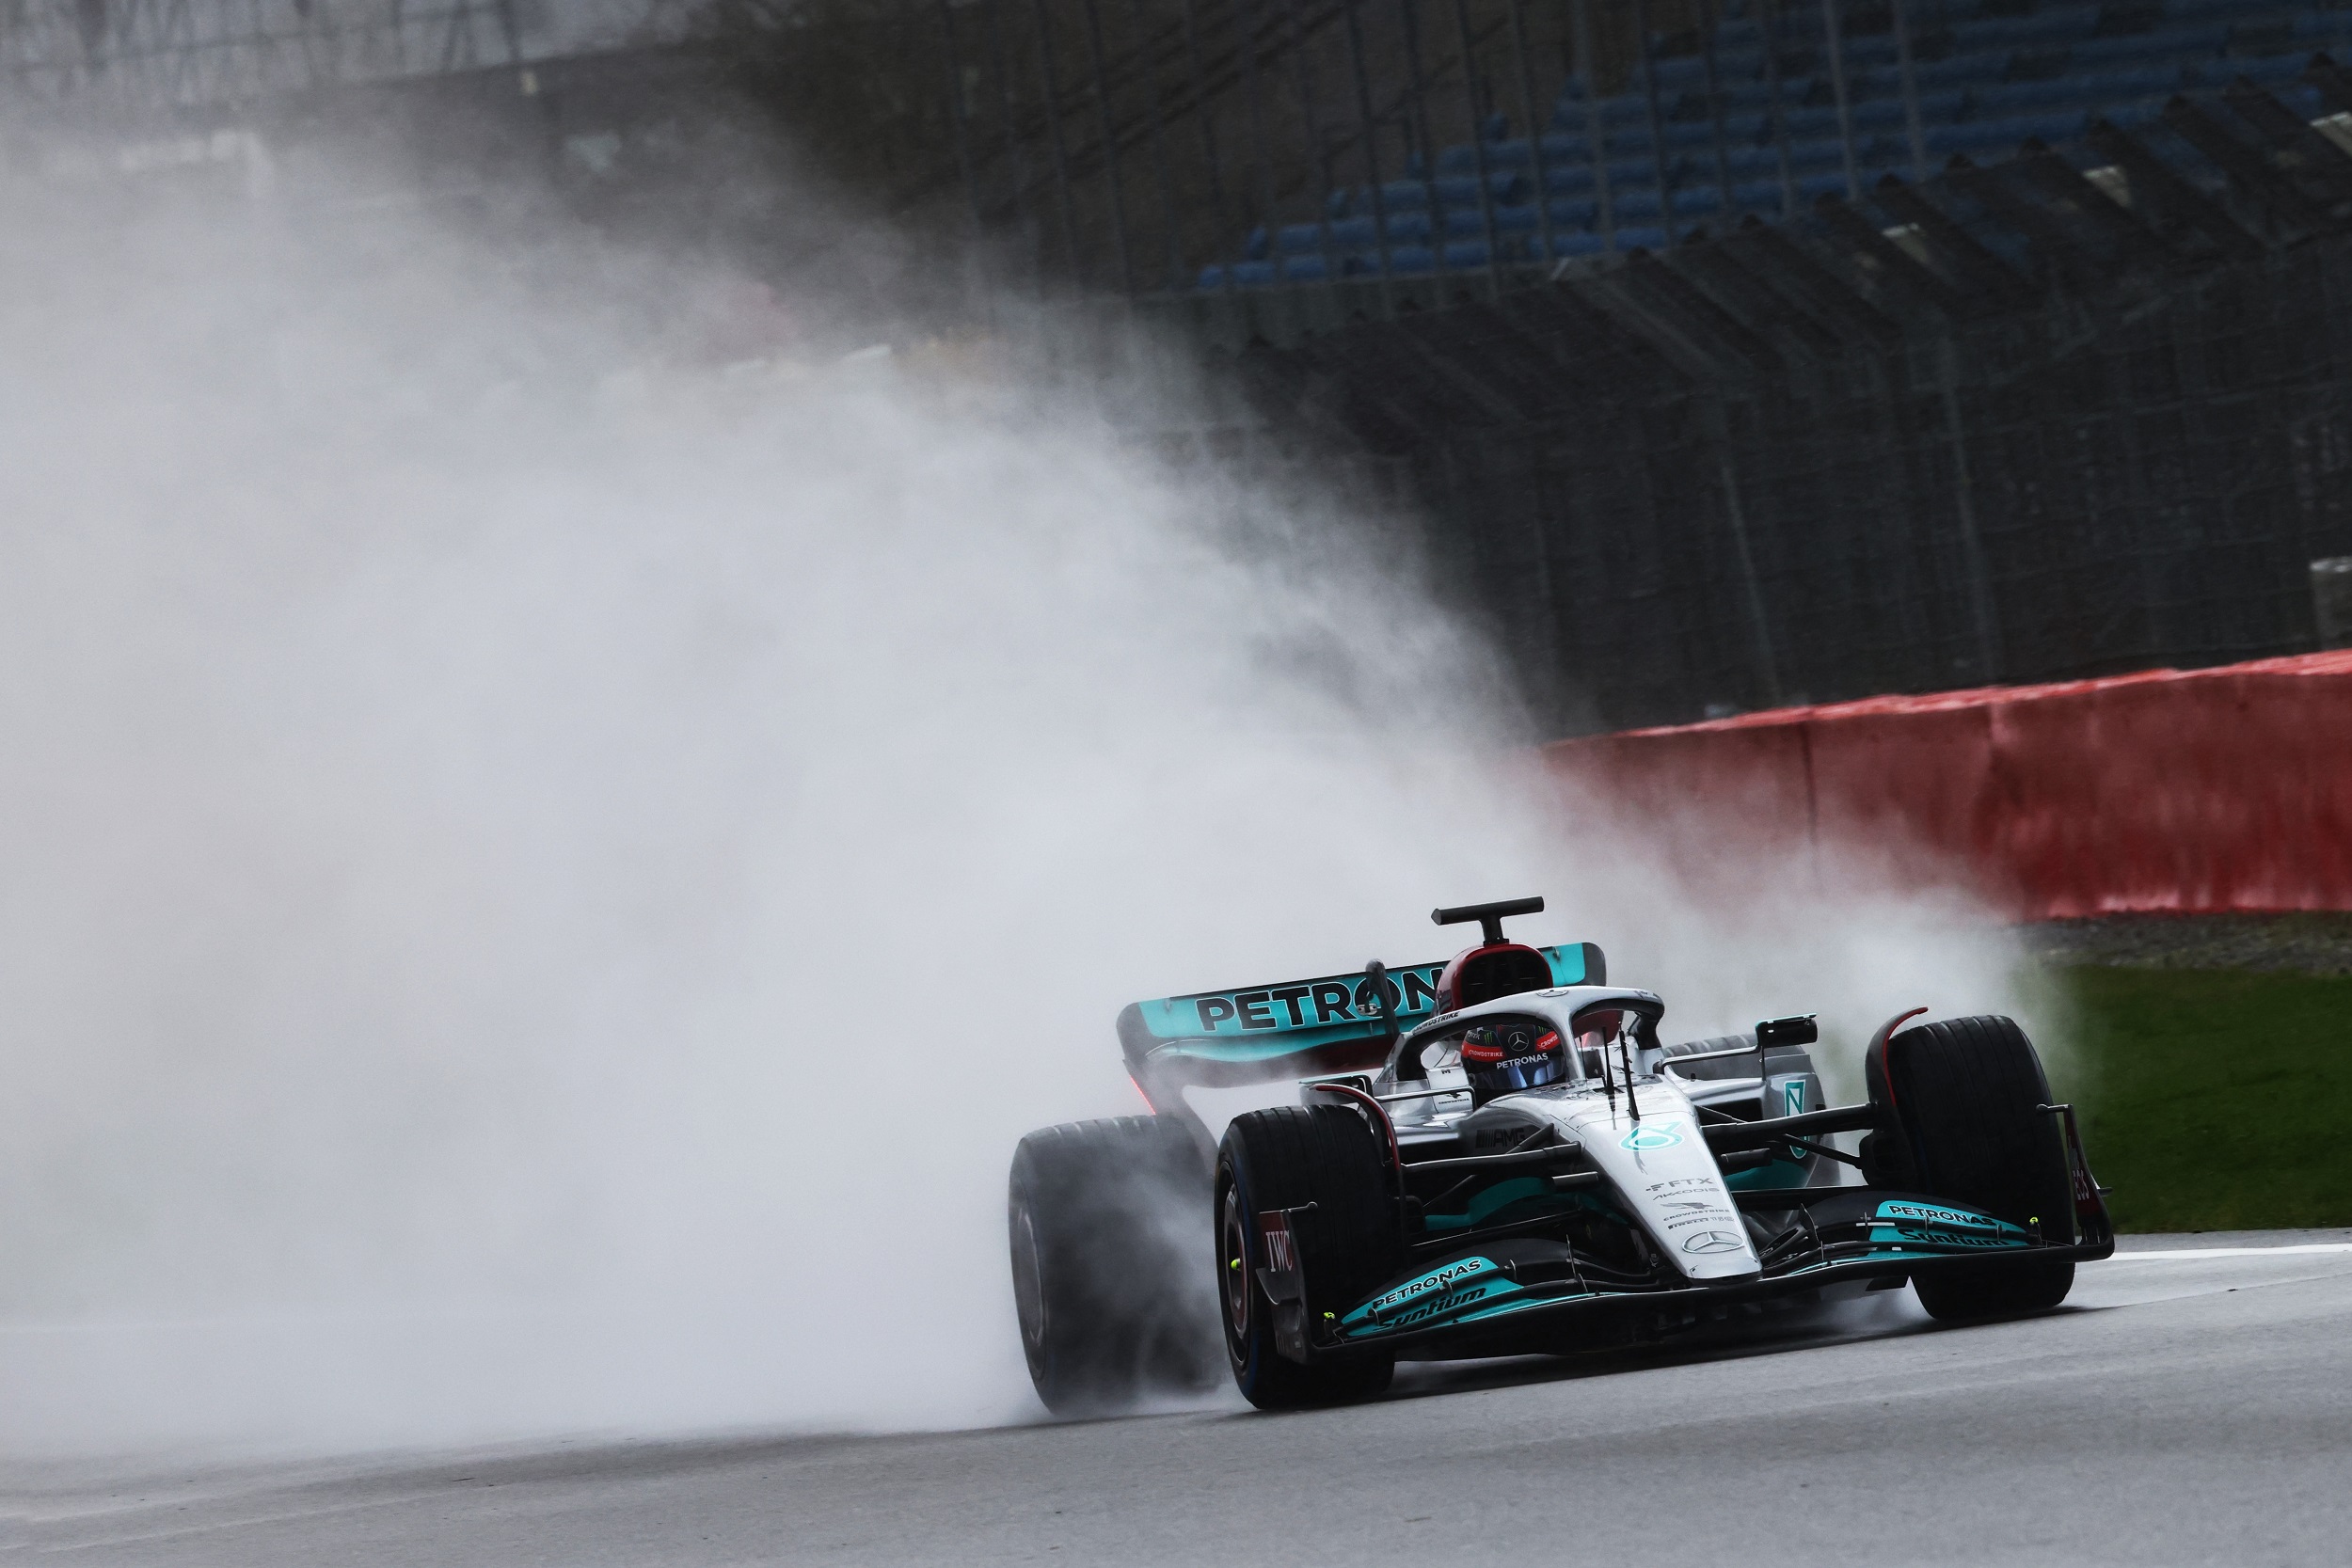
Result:
{"type": "Polygon", "coordinates": [[[1185,315],[1270,418],[1411,465],[1552,736],[2300,654],[2352,555],[2331,129],[2241,85],[2093,169],[2027,143],[1397,320],[1185,315]]]}

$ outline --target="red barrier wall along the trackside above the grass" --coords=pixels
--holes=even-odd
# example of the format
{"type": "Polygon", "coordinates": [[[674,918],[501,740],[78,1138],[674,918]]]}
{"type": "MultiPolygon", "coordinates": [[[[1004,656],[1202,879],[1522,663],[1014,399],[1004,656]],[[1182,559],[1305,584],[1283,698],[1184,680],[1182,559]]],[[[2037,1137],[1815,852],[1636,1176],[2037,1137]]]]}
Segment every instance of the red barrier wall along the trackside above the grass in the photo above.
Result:
{"type": "Polygon", "coordinates": [[[1545,764],[1750,844],[1924,851],[2016,919],[2352,910],[2352,651],[1783,708],[1545,764]]]}

